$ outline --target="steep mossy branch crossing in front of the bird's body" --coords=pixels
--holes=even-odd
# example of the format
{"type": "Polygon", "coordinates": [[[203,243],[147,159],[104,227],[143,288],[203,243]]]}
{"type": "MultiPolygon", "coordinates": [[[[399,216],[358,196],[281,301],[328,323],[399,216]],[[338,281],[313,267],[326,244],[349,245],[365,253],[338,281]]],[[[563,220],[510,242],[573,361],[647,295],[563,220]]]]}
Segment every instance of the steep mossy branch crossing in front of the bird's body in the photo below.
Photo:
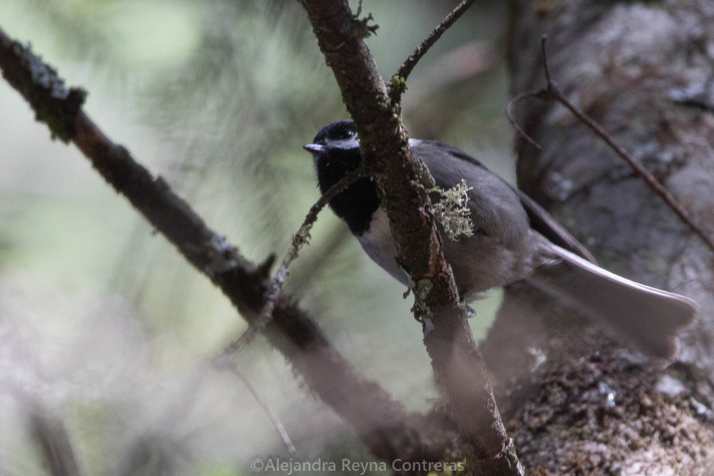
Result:
{"type": "Polygon", "coordinates": [[[368,21],[355,16],[346,0],[301,1],[356,123],[363,165],[381,192],[398,260],[416,283],[418,318],[433,324],[425,325],[424,342],[437,383],[446,390],[448,409],[468,442],[466,450],[475,460],[493,462],[501,457],[496,465],[505,461],[503,467],[510,465],[510,474],[516,474],[516,456],[508,446],[466,310],[443,258],[433,208],[408,146],[400,108],[388,96],[363,41],[370,33],[368,21]]]}

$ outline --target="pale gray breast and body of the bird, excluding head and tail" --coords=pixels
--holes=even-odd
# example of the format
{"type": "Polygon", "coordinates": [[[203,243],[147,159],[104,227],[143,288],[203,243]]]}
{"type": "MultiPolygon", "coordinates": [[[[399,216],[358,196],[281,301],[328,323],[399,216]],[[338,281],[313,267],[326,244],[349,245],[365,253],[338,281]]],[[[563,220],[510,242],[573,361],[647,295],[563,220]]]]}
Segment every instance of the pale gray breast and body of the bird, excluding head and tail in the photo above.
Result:
{"type": "MultiPolygon", "coordinates": [[[[456,148],[434,141],[411,140],[410,145],[438,186],[446,190],[463,179],[471,187],[467,196],[473,235],[451,240],[438,224],[443,255],[451,264],[458,292],[468,300],[488,288],[513,283],[532,273],[533,256],[540,242],[529,229],[516,192],[456,148]]],[[[377,208],[368,228],[357,238],[372,260],[408,285],[409,277],[396,260],[396,243],[385,211],[377,208]]]]}

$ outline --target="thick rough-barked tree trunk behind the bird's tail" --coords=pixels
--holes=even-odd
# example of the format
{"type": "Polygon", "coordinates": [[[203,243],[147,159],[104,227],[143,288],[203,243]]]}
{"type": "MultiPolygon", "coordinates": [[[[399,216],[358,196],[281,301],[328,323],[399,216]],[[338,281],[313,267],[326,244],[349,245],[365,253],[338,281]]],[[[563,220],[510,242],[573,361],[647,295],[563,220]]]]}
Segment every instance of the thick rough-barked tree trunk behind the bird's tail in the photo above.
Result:
{"type": "MultiPolygon", "coordinates": [[[[511,88],[565,96],[714,234],[714,3],[514,0],[511,88]],[[539,5],[539,6],[538,6],[539,5]]],[[[714,256],[598,138],[555,103],[518,105],[518,181],[605,268],[701,305],[681,362],[658,370],[523,288],[482,349],[531,474],[710,474],[714,256]]],[[[647,325],[647,323],[643,323],[647,325]]]]}

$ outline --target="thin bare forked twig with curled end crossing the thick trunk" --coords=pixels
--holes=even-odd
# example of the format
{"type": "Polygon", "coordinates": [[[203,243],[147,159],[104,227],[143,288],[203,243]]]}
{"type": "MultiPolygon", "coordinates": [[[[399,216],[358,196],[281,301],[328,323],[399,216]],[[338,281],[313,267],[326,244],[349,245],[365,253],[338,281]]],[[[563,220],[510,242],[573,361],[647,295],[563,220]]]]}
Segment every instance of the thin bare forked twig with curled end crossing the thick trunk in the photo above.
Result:
{"type": "Polygon", "coordinates": [[[510,116],[510,108],[512,103],[516,103],[517,101],[521,101],[525,98],[540,98],[546,101],[555,100],[563,104],[563,106],[565,106],[568,111],[573,113],[573,116],[578,118],[578,120],[581,123],[585,124],[585,126],[588,126],[590,130],[595,133],[596,136],[603,139],[603,141],[605,141],[605,143],[608,144],[608,146],[610,146],[610,148],[613,149],[613,151],[615,151],[615,153],[618,154],[620,158],[627,162],[630,168],[632,168],[635,175],[640,176],[640,178],[642,178],[645,183],[647,183],[647,185],[653,191],[655,191],[655,193],[657,193],[657,195],[660,196],[663,201],[665,201],[667,206],[669,206],[669,208],[671,208],[672,211],[677,214],[680,220],[683,221],[683,223],[685,223],[697,236],[699,236],[699,238],[703,240],[705,245],[707,245],[710,250],[714,251],[714,239],[708,236],[708,234],[701,226],[698,225],[698,223],[695,223],[690,213],[677,201],[676,198],[672,196],[672,194],[657,180],[657,178],[655,178],[655,176],[653,176],[650,171],[643,167],[642,164],[640,164],[637,159],[632,156],[632,154],[625,150],[625,148],[616,143],[613,136],[610,136],[610,134],[605,131],[605,129],[603,129],[600,124],[593,121],[590,116],[581,111],[577,106],[571,103],[568,98],[563,95],[563,93],[560,92],[560,89],[558,89],[558,86],[555,85],[555,82],[550,76],[548,53],[545,49],[545,44],[547,43],[547,41],[547,35],[543,35],[543,37],[540,39],[540,49],[543,53],[543,69],[545,70],[545,79],[548,81],[548,83],[545,85],[545,88],[540,89],[539,91],[531,91],[528,93],[520,94],[519,96],[513,98],[513,100],[511,100],[511,102],[509,102],[508,106],[506,107],[506,115],[508,116],[509,120],[511,120],[511,123],[516,126],[516,130],[521,133],[521,135],[526,138],[526,140],[537,146],[537,144],[535,144],[535,141],[533,141],[533,139],[529,137],[528,134],[526,134],[526,132],[523,131],[523,129],[521,129],[521,127],[518,126],[515,121],[512,120],[510,116]]]}

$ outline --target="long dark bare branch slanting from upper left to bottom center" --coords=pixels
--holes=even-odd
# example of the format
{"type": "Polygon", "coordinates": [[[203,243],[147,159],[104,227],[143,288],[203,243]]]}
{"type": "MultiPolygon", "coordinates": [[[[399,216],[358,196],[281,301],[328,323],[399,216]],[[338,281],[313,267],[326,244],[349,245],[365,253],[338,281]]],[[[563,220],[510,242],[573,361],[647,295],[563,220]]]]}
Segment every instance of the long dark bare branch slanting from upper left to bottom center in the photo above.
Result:
{"type": "MultiPolygon", "coordinates": [[[[52,135],[74,142],[97,172],[129,200],[196,269],[223,291],[248,323],[258,319],[268,287],[267,266],[243,258],[211,230],[160,177],[137,163],[81,110],[84,93],[68,89],[56,71],[0,30],[0,70],[30,103],[52,135]]],[[[333,348],[316,323],[280,295],[266,338],[318,395],[349,422],[373,455],[383,460],[440,460],[453,451],[445,422],[406,412],[333,348]]]]}

